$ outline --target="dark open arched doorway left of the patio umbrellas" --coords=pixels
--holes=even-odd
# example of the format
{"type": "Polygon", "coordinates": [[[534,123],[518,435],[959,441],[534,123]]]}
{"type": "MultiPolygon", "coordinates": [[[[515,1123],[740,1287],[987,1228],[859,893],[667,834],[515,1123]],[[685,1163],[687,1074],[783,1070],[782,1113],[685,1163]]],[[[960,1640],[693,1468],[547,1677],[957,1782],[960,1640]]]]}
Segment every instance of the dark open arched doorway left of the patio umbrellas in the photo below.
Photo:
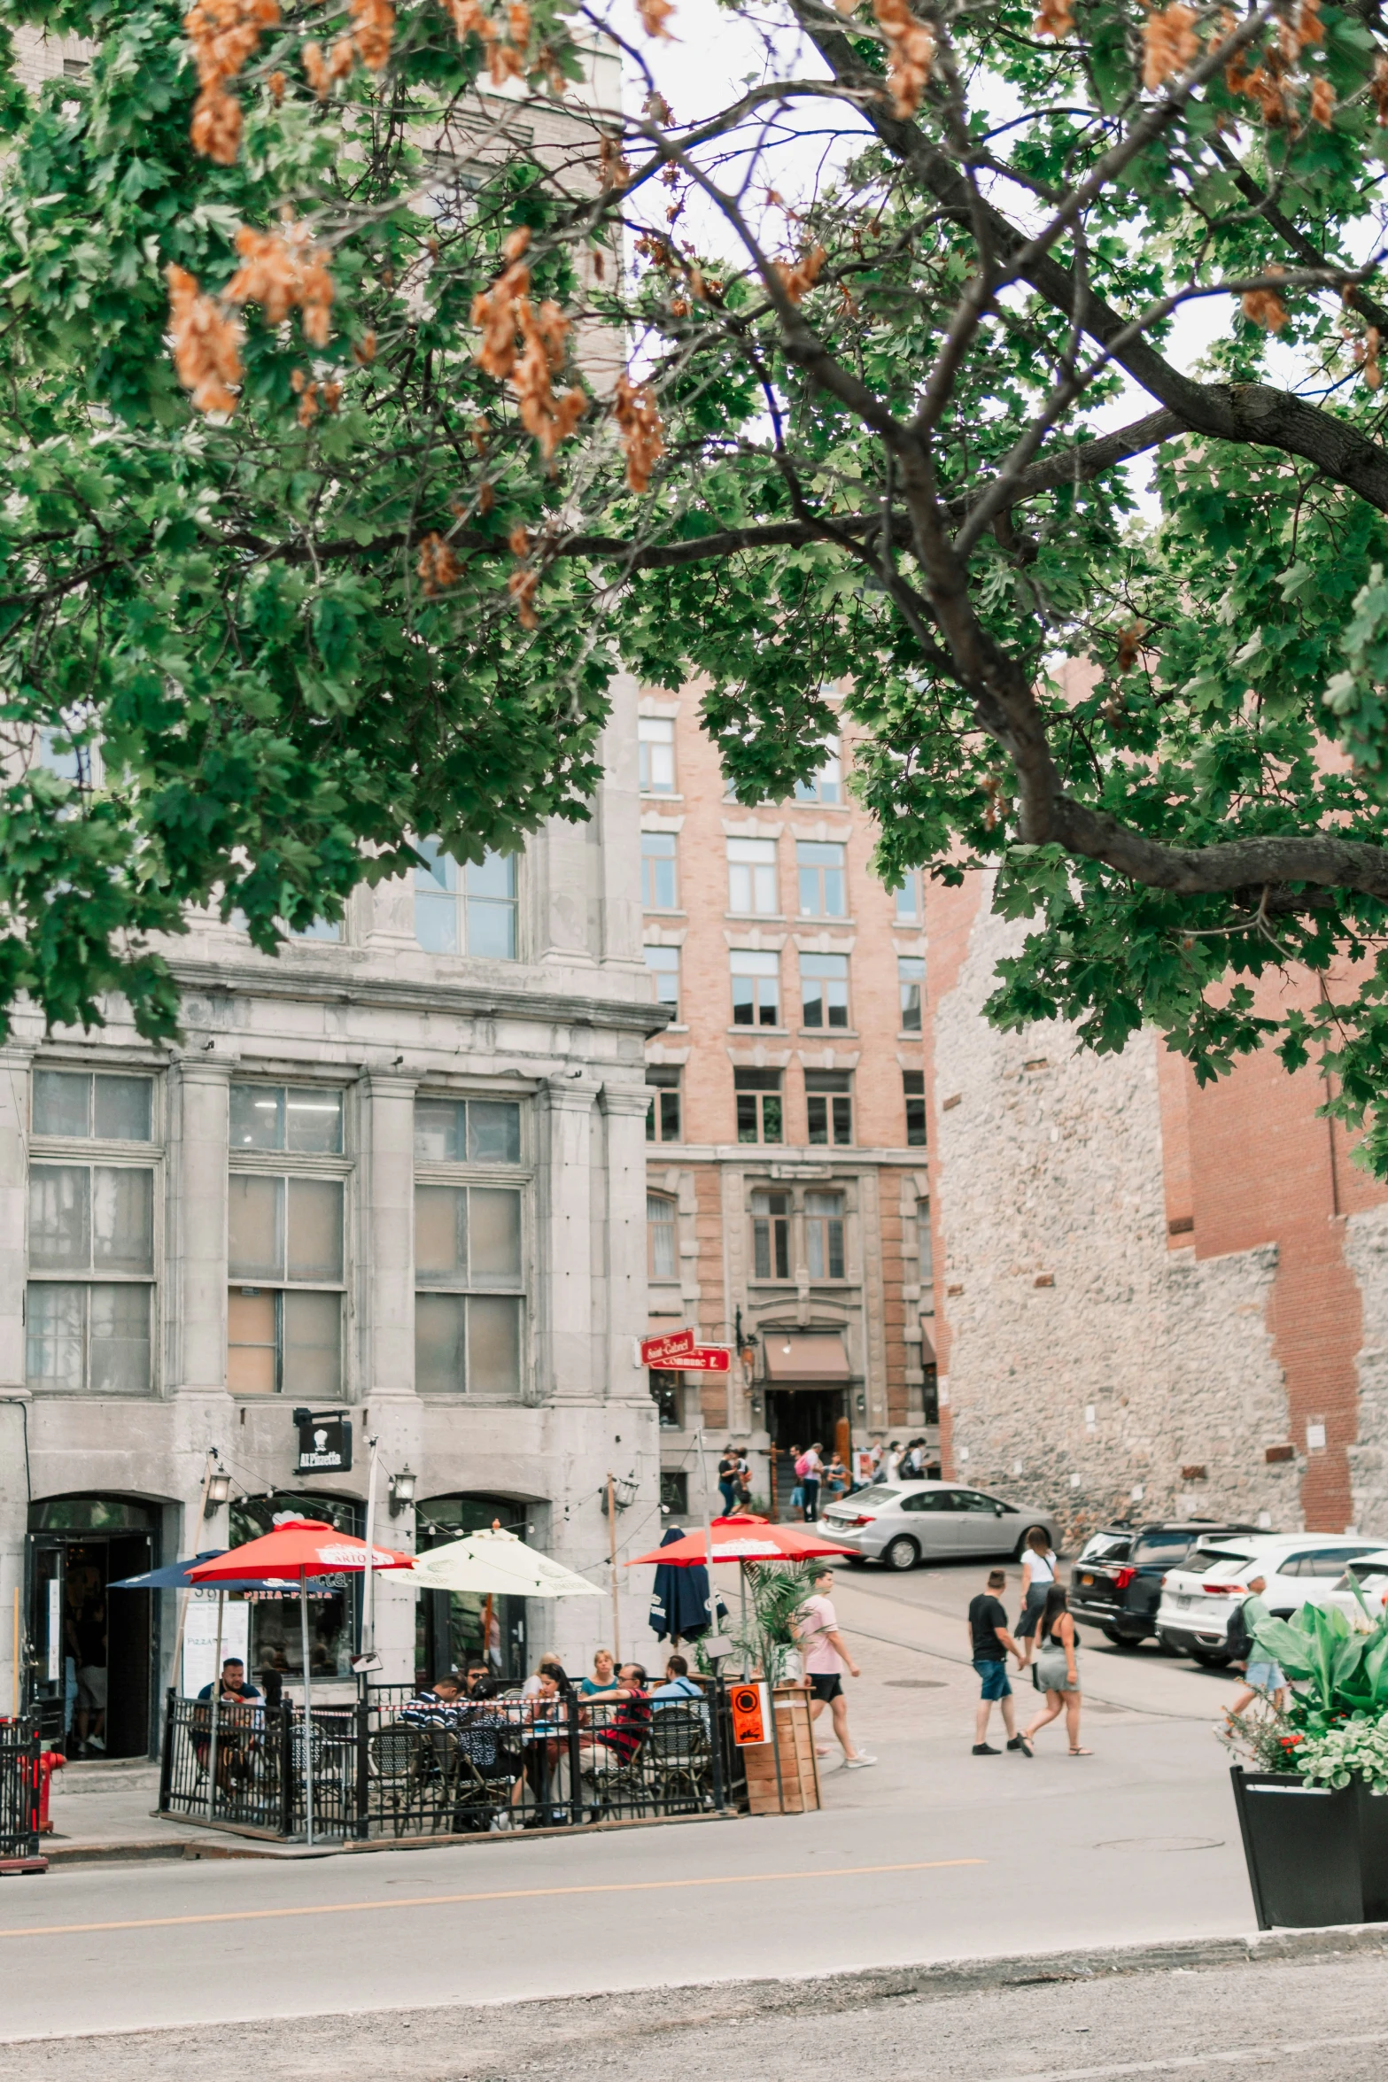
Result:
{"type": "Polygon", "coordinates": [[[40,1732],[69,1757],[148,1757],[158,1605],[110,1591],[158,1568],[156,1503],[44,1497],[29,1505],[29,1672],[40,1732]]]}

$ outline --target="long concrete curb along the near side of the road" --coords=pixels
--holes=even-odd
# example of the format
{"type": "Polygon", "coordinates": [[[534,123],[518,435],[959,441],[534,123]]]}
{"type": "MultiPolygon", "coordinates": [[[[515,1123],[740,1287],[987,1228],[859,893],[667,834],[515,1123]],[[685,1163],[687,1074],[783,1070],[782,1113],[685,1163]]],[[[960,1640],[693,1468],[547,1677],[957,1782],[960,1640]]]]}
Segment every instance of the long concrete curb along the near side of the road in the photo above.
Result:
{"type": "MultiPolygon", "coordinates": [[[[246,2017],[235,2022],[246,2051],[264,2049],[279,2034],[304,2032],[314,2026],[339,2034],[345,2024],[370,2028],[381,2040],[410,2032],[410,2049],[420,2057],[429,2051],[429,2024],[445,2026],[456,2049],[458,2032],[468,2020],[495,2032],[499,2020],[533,2024],[549,2055],[562,2049],[585,2011],[601,2005],[608,2015],[620,2005],[622,2032],[651,2030],[674,2034],[691,2026],[737,2024],[778,2011],[801,2011],[805,2001],[830,2003],[839,2011],[866,2009],[872,2003],[924,1997],[945,2001],[959,1995],[982,1995],[1001,1988],[1040,1988],[1061,1982],[1120,1980],[1136,1974],[1207,1974],[1232,1965],[1284,1965],[1299,1959],[1342,1959],[1388,1955],[1388,1924],[1326,1924],[1315,1930],[1261,1930],[1228,1938],[1169,1938],[1142,1945],[1070,1947],[1055,1953],[1007,1953],[991,1959],[930,1959],[920,1965],[853,1967],[843,1974],[778,1976],[776,1980],[678,1980],[660,1986],[579,1990],[570,1995],[497,1997],[483,2003],[418,2003],[393,2009],[306,2011],[285,2017],[246,2017]],[[649,2011],[649,2015],[645,2015],[649,2011]]],[[[98,2032],[44,2032],[0,2038],[6,2047],[54,2042],[127,2040],[156,2053],[160,2045],[185,2038],[206,2040],[206,2024],[112,2026],[98,2032]]],[[[256,2055],[258,2057],[258,2055],[256,2055]]]]}

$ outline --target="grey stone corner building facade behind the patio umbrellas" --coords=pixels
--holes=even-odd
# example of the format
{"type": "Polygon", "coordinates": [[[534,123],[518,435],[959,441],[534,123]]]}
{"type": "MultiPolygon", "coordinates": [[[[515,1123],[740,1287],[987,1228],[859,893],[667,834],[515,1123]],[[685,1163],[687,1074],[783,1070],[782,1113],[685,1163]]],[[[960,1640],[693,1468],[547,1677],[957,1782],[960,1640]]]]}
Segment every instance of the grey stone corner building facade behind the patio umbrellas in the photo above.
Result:
{"type": "MultiPolygon", "coordinates": [[[[360,889],[343,929],[277,960],[196,920],[169,949],[177,1047],[142,1043],[121,1004],[89,1035],[17,1018],[0,1078],[6,1701],[19,1611],[71,1734],[69,1661],[100,1620],[108,1747],[144,1753],[177,1601],[106,1584],[285,1507],[360,1532],[368,1434],[379,1539],[408,1551],[499,1518],[603,1591],[493,1611],[506,1668],[612,1636],[610,1478],[626,1551],[660,1520],[635,1364],[643,1049],[664,1020],[635,899],[635,700],[622,683],[593,820],[556,822],[524,858],[360,889]],[[295,1405],[354,1420],[350,1474],[295,1474],[295,1405]],[[210,1466],[229,1497],[204,1516],[210,1466]]],[[[620,1597],[631,1643],[641,1593],[620,1597]]],[[[454,1605],[416,1609],[381,1578],[385,1678],[481,1647],[479,1601],[454,1605]]],[[[241,1624],[252,1659],[287,1649],[293,1684],[281,1620],[241,1624]]],[[[348,1589],[318,1614],[316,1682],[345,1680],[356,1626],[348,1589]]]]}

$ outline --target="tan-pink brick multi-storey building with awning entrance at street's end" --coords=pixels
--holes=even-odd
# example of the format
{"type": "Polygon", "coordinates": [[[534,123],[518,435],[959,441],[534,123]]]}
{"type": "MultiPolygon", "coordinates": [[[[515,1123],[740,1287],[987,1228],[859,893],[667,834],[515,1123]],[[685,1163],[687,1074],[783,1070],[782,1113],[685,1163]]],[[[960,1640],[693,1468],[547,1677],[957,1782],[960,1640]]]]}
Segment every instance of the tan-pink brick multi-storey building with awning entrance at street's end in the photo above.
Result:
{"type": "Polygon", "coordinates": [[[916,881],[870,870],[839,743],[793,802],[745,808],[697,691],[645,697],[639,733],[645,958],[672,1008],[647,1047],[649,1320],[735,1347],[726,1376],[651,1380],[666,1497],[697,1509],[699,1426],[753,1449],[762,1495],[772,1447],[934,1437],[924,920],[916,881]]]}

